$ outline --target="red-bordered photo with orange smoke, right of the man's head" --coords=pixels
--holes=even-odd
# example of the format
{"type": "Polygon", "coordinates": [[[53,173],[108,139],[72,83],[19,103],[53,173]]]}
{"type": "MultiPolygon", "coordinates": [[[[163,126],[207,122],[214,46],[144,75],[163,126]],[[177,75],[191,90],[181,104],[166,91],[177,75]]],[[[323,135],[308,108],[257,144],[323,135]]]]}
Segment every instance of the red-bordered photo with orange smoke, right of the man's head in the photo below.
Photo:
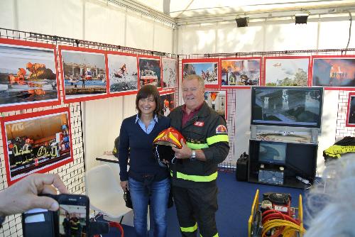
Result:
{"type": "Polygon", "coordinates": [[[260,84],[261,57],[222,58],[221,87],[247,88],[260,84]]]}

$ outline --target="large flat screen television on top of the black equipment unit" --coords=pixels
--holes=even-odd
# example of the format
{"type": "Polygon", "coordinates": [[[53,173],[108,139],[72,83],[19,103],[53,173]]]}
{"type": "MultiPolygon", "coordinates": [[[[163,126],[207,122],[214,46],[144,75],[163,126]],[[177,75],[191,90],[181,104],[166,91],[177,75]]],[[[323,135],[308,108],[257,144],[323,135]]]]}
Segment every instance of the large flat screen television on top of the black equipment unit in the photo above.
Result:
{"type": "Polygon", "coordinates": [[[252,87],[251,124],[320,128],[322,87],[252,87]]]}

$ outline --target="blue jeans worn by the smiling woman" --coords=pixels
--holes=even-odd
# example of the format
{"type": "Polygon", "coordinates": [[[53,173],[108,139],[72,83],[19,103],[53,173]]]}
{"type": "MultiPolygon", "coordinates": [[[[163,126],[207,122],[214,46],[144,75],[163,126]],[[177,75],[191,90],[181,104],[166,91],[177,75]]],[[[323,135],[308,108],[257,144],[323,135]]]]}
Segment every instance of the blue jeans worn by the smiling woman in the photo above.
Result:
{"type": "Polygon", "coordinates": [[[167,210],[170,190],[170,180],[160,180],[151,183],[151,197],[143,182],[129,177],[129,192],[133,204],[133,224],[137,237],[146,237],[147,233],[147,211],[148,201],[151,200],[151,211],[154,223],[155,237],[165,237],[167,231],[167,210]]]}

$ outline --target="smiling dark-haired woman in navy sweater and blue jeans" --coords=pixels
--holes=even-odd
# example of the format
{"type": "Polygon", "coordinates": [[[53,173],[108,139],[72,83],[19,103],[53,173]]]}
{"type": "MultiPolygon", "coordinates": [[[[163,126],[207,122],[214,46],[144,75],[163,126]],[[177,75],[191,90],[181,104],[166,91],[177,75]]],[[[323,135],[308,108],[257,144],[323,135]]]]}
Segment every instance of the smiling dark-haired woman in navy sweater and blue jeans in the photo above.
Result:
{"type": "Polygon", "coordinates": [[[136,236],[147,236],[146,216],[150,201],[154,236],[163,237],[167,230],[170,180],[168,169],[160,167],[153,158],[153,140],[170,126],[170,119],[160,115],[160,95],[153,85],[145,85],[138,91],[136,109],[138,114],[124,119],[119,134],[121,187],[131,193],[136,236]]]}

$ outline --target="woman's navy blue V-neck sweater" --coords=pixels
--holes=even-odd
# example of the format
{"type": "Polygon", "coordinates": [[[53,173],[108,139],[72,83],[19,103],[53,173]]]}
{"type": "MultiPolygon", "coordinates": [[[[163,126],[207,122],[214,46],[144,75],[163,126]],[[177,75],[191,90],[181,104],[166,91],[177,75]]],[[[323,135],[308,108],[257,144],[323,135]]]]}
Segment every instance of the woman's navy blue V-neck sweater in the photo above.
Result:
{"type": "Polygon", "coordinates": [[[136,115],[125,118],[119,133],[119,176],[121,181],[132,177],[143,182],[143,175],[155,175],[154,181],[169,176],[168,169],[160,167],[154,158],[153,140],[164,129],[170,126],[170,118],[158,116],[153,131],[147,134],[136,123],[136,115]],[[129,172],[127,162],[129,160],[129,172]]]}

